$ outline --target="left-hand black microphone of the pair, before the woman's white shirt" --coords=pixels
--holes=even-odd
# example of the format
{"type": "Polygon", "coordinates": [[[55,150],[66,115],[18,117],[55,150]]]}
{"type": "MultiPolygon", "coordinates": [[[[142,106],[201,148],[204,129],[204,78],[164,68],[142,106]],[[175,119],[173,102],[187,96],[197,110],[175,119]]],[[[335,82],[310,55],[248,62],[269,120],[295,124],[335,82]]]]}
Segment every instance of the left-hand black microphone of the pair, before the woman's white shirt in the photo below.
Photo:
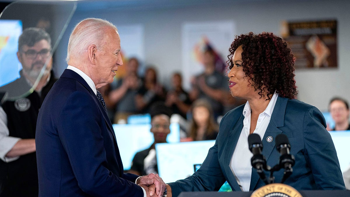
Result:
{"type": "Polygon", "coordinates": [[[257,172],[262,181],[264,181],[266,185],[269,184],[266,179],[264,169],[270,170],[270,167],[266,166],[266,158],[261,154],[263,147],[260,136],[258,134],[250,134],[248,136],[248,145],[249,150],[253,153],[253,157],[250,160],[252,167],[257,169],[257,172]]]}

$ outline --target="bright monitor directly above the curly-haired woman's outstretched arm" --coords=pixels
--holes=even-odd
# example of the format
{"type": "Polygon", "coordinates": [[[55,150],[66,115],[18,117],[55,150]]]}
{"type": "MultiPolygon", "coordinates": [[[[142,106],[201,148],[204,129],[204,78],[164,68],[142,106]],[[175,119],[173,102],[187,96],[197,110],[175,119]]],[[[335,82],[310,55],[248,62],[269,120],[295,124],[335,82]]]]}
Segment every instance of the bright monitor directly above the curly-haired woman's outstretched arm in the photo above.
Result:
{"type": "Polygon", "coordinates": [[[215,140],[156,144],[159,176],[169,183],[193,175],[214,144],[215,140]]]}

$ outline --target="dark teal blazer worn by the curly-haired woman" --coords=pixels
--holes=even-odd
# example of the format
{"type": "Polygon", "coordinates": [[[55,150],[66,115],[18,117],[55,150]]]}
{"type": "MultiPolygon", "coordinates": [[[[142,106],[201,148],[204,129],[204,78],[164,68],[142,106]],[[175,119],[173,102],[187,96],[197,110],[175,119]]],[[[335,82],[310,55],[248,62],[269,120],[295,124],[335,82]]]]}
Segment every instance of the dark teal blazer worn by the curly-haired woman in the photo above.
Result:
{"type": "MultiPolygon", "coordinates": [[[[244,105],[239,106],[222,118],[215,145],[210,148],[201,168],[184,180],[169,183],[173,196],[179,195],[181,191],[217,191],[225,181],[228,181],[233,191],[241,191],[230,169],[230,161],[243,128],[243,108],[244,105]]],[[[262,137],[262,154],[268,165],[273,167],[277,164],[279,153],[275,140],[269,143],[266,138],[287,135],[290,153],[295,156],[295,165],[293,174],[286,179],[285,184],[297,190],[345,190],[337,153],[325,125],[324,117],[316,107],[278,97],[262,137]]],[[[274,176],[276,183],[279,183],[283,170],[274,172],[274,176]]],[[[269,172],[266,172],[266,177],[269,177],[269,172]]],[[[264,185],[256,169],[252,169],[250,190],[264,185]]]]}

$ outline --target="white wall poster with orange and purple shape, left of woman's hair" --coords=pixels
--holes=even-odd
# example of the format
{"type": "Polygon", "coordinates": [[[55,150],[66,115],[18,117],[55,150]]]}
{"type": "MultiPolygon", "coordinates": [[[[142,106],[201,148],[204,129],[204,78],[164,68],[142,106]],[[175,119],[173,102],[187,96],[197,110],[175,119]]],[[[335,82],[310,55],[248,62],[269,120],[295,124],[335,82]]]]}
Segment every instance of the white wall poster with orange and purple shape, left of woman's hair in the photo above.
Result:
{"type": "Polygon", "coordinates": [[[187,22],[182,25],[183,86],[191,89],[191,78],[203,72],[202,54],[211,47],[216,69],[225,74],[229,48],[235,39],[233,21],[187,22]]]}

